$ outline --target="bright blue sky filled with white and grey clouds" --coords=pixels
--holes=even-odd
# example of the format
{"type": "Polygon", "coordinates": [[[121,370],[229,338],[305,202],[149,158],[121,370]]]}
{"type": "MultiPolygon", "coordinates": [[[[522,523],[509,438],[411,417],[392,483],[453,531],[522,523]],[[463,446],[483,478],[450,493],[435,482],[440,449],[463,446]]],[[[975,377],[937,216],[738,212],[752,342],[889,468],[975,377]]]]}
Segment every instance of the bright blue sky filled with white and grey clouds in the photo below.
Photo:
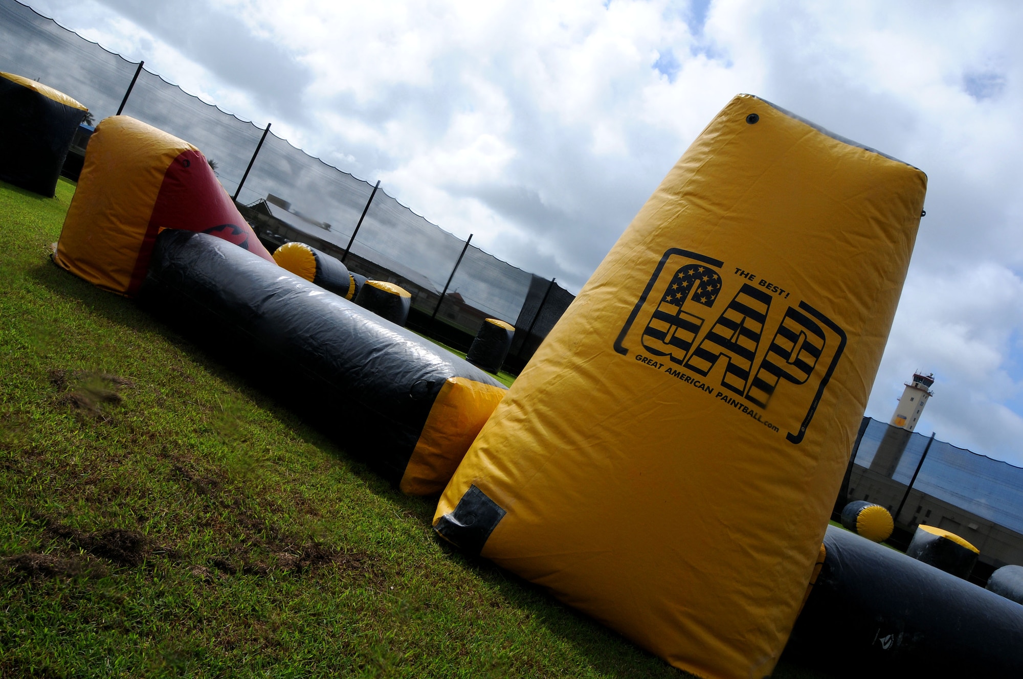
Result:
{"type": "Polygon", "coordinates": [[[573,291],[739,92],[929,180],[868,407],[1023,464],[1023,4],[31,0],[573,291]]]}

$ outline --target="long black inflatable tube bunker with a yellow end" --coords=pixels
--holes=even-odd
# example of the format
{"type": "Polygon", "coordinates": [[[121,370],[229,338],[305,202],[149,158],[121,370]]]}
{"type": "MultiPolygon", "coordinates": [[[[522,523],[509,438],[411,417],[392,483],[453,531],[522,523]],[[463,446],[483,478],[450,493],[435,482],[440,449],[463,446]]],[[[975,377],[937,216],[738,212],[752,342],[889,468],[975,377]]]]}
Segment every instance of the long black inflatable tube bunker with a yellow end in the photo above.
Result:
{"type": "Polygon", "coordinates": [[[163,231],[138,299],[409,494],[443,490],[505,393],[432,342],[205,233],[163,231]]]}

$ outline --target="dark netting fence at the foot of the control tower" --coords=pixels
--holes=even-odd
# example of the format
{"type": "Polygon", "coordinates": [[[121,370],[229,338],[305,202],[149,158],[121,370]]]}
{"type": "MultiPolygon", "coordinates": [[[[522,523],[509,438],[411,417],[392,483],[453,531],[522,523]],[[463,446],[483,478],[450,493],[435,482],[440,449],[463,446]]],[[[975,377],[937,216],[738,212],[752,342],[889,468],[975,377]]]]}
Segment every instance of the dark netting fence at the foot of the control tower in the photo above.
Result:
{"type": "MultiPolygon", "coordinates": [[[[855,463],[909,485],[929,437],[870,419],[855,463]]],[[[913,488],[1023,533],[1023,467],[935,440],[913,488]]]]}

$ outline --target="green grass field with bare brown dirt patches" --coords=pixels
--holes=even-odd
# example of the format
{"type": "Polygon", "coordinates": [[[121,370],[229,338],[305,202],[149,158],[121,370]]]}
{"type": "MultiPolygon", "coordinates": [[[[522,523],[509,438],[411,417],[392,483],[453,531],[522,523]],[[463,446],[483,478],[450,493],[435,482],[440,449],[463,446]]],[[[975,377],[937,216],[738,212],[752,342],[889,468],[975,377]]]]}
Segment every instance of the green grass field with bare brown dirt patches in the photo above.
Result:
{"type": "Polygon", "coordinates": [[[684,676],[52,265],[73,191],[0,183],[0,677],[684,676]]]}

